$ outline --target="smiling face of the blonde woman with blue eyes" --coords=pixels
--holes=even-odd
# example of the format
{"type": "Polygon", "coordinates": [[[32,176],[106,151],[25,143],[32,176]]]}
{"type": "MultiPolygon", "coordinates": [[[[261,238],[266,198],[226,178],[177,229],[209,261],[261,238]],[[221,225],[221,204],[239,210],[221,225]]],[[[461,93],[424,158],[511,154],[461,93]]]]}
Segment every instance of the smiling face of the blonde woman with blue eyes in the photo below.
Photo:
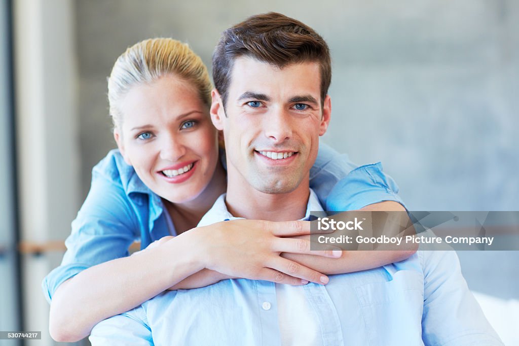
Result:
{"type": "Polygon", "coordinates": [[[173,75],[132,87],[114,130],[125,161],[172,203],[198,197],[218,162],[217,132],[195,87],[173,75]]]}

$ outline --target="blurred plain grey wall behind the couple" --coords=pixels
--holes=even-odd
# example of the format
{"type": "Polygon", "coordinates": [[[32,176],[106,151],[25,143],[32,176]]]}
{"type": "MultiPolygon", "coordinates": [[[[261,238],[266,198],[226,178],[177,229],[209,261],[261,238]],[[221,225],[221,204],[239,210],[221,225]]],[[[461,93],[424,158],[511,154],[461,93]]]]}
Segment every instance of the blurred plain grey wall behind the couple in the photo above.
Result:
{"type": "MultiPolygon", "coordinates": [[[[91,167],[114,148],[106,76],[153,36],[186,41],[210,64],[220,33],[275,10],[316,29],[333,54],[324,140],[381,161],[412,210],[519,210],[519,2],[515,0],[76,3],[80,145],[91,167]]],[[[518,252],[460,253],[471,288],[517,297],[518,252]]]]}

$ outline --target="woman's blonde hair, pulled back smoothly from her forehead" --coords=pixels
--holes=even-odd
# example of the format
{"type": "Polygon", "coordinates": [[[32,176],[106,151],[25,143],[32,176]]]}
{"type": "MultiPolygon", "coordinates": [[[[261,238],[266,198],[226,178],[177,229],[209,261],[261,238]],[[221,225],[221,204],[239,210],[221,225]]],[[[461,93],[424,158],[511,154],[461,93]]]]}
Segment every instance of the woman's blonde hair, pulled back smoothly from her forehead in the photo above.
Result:
{"type": "Polygon", "coordinates": [[[119,56],[108,77],[108,103],[114,126],[122,124],[119,101],[133,86],[152,83],[167,74],[191,83],[202,102],[210,107],[212,84],[202,59],[186,43],[172,38],[150,38],[119,56]]]}

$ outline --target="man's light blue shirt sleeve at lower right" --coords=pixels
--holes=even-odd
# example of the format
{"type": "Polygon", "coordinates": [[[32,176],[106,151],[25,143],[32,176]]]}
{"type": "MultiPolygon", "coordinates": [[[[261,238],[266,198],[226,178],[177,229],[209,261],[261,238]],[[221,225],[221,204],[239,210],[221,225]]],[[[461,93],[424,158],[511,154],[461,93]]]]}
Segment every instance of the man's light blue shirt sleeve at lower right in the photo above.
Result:
{"type": "Polygon", "coordinates": [[[426,345],[503,345],[461,274],[453,250],[419,251],[424,268],[422,339],[426,345]]]}

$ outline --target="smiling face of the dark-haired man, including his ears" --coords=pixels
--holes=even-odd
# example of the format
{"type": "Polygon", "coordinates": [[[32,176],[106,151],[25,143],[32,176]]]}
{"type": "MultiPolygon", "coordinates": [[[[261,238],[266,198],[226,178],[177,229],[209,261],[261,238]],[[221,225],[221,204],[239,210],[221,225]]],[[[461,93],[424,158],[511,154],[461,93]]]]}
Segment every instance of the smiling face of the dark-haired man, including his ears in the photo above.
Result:
{"type": "Polygon", "coordinates": [[[216,90],[211,108],[214,125],[224,132],[229,179],[241,176],[270,194],[292,192],[308,179],[330,122],[330,97],[321,107],[320,78],[316,62],[278,69],[235,60],[225,111],[216,90]]]}

